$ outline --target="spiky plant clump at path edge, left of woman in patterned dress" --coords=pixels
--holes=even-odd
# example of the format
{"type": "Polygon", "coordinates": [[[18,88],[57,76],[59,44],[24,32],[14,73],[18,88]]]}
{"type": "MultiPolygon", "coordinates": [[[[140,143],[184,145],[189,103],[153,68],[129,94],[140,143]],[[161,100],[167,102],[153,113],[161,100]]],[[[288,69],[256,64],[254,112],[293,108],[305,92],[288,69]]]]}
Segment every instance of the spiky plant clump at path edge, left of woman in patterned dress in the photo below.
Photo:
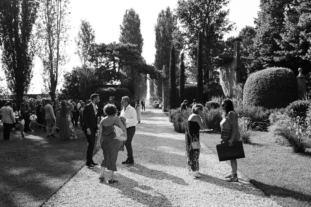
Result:
{"type": "Polygon", "coordinates": [[[191,115],[191,110],[171,109],[169,110],[169,121],[173,123],[176,132],[185,133],[187,121],[191,115]]]}

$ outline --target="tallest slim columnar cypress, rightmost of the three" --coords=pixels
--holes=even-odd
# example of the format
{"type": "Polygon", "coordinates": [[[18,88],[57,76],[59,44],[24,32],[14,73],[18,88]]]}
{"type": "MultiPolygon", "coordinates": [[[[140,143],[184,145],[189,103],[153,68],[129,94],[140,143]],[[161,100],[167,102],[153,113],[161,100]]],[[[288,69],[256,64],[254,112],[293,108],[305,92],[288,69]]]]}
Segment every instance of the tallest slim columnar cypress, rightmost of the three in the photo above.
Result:
{"type": "Polygon", "coordinates": [[[203,103],[203,101],[202,31],[199,31],[197,43],[197,102],[203,103]]]}

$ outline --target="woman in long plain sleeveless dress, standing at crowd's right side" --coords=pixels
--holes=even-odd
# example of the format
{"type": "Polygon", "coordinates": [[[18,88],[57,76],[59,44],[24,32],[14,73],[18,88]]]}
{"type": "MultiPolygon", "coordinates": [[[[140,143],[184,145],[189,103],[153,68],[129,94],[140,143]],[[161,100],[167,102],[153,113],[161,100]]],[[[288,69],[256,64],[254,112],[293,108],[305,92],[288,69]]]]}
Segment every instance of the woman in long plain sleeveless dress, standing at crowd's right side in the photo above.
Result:
{"type": "Polygon", "coordinates": [[[55,112],[60,112],[60,117],[58,119],[58,127],[59,127],[59,140],[67,140],[70,139],[70,131],[69,131],[69,123],[67,119],[68,114],[68,106],[66,101],[62,101],[61,107],[58,107],[55,112]]]}

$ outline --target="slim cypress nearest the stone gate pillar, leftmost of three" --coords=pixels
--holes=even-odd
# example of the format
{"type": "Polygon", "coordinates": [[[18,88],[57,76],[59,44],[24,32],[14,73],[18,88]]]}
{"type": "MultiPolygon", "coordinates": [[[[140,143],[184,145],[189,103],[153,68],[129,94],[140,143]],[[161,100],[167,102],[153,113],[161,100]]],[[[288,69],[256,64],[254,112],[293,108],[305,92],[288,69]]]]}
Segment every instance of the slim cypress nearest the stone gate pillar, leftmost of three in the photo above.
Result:
{"type": "Polygon", "coordinates": [[[170,81],[170,97],[169,105],[171,109],[175,109],[177,106],[177,97],[176,97],[176,72],[175,72],[175,47],[174,44],[171,48],[171,58],[169,60],[169,81],[170,81]]]}

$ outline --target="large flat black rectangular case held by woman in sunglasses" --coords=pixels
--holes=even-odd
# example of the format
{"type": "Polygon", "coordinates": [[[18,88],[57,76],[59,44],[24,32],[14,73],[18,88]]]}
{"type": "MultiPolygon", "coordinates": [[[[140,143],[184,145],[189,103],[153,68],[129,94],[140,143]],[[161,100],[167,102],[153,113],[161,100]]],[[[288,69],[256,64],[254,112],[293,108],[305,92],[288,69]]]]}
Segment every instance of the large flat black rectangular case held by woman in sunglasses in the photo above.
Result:
{"type": "Polygon", "coordinates": [[[219,161],[245,158],[242,141],[216,145],[219,161]]]}

